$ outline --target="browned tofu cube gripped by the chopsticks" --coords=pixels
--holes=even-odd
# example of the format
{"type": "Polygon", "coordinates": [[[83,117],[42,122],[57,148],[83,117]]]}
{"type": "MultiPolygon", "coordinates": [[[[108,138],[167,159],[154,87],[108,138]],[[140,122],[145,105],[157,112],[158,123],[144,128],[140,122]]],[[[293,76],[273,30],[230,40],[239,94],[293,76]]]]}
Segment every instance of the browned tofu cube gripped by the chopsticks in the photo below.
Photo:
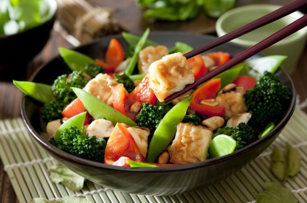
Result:
{"type": "Polygon", "coordinates": [[[170,54],[153,62],[148,69],[148,76],[150,87],[159,101],[183,90],[195,80],[182,53],[170,54]]]}

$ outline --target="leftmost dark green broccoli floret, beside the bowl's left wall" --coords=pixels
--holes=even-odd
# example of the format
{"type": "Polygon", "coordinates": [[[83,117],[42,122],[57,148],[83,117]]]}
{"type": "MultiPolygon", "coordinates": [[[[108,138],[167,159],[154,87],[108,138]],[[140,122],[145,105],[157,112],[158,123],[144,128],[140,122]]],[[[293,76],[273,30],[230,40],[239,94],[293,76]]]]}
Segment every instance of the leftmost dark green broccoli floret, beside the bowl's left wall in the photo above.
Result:
{"type": "Polygon", "coordinates": [[[50,102],[45,103],[42,111],[42,117],[47,121],[53,121],[62,117],[61,112],[64,109],[65,104],[56,98],[52,99],[50,102]]]}

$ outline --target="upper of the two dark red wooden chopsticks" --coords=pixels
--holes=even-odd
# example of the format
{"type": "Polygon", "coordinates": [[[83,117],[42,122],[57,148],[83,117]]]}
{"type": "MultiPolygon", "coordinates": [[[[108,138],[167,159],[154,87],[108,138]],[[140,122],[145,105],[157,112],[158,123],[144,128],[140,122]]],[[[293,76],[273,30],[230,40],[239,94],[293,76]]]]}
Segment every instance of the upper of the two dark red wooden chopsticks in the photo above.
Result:
{"type": "Polygon", "coordinates": [[[197,47],[196,49],[186,53],[184,56],[185,58],[189,59],[193,56],[201,54],[221,44],[229,42],[230,40],[233,40],[239,36],[249,33],[257,28],[267,25],[282,17],[285,17],[286,15],[289,15],[290,13],[293,13],[294,11],[301,9],[305,5],[307,5],[306,0],[295,0],[293,2],[290,2],[286,4],[285,6],[282,6],[279,9],[266,14],[265,16],[258,18],[255,21],[252,21],[246,25],[243,25],[242,27],[239,27],[238,29],[231,31],[230,33],[227,33],[226,35],[223,35],[219,38],[216,38],[215,40],[212,40],[204,45],[201,45],[200,47],[197,47]]]}

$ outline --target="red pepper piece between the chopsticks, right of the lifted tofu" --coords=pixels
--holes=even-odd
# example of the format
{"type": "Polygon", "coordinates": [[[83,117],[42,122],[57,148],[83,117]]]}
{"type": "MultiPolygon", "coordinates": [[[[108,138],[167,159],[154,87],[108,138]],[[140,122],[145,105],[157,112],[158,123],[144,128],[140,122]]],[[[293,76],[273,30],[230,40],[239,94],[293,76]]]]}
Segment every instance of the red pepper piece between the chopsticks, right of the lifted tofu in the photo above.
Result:
{"type": "Polygon", "coordinates": [[[188,67],[192,70],[196,80],[208,73],[204,60],[200,54],[188,59],[187,64],[188,67]]]}

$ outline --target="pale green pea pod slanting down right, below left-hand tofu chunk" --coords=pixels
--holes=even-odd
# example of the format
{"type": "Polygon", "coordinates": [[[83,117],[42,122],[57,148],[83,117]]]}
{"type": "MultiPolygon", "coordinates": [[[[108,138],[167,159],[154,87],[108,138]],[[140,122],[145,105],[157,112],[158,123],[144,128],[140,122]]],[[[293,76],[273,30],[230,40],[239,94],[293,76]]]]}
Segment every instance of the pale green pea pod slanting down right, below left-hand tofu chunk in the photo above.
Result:
{"type": "Polygon", "coordinates": [[[88,113],[90,113],[95,120],[105,118],[108,121],[111,121],[114,125],[116,125],[116,123],[125,123],[130,126],[136,125],[136,123],[130,118],[126,117],[119,111],[113,109],[111,106],[107,105],[103,101],[100,101],[98,98],[87,93],[86,91],[76,87],[72,87],[72,90],[82,101],[88,113]]]}

